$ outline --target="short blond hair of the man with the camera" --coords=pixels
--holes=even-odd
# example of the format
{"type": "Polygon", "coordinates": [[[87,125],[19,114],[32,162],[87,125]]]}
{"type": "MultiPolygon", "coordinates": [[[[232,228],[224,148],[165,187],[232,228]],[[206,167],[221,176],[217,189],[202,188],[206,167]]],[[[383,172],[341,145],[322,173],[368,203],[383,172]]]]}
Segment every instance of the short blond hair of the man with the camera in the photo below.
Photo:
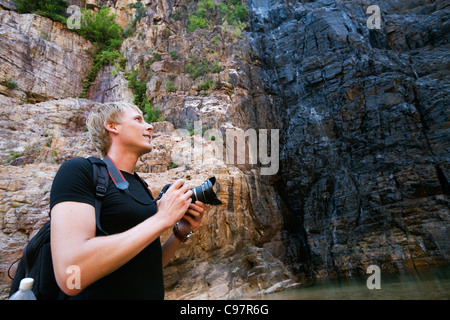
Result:
{"type": "Polygon", "coordinates": [[[135,104],[123,101],[102,103],[90,112],[86,121],[89,137],[102,157],[106,156],[111,146],[111,139],[105,123],[120,123],[120,118],[127,108],[132,108],[142,115],[142,111],[135,104]]]}

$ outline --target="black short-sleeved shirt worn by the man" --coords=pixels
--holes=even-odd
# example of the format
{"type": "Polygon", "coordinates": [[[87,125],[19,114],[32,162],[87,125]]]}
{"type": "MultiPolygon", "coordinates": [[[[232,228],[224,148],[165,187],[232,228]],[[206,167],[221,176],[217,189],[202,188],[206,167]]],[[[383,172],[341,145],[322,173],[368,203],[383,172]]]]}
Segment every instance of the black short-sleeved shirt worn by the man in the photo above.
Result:
{"type": "MultiPolygon", "coordinates": [[[[129,191],[138,203],[116,188],[110,178],[103,199],[100,222],[109,234],[126,231],[156,213],[144,185],[135,175],[123,172],[129,191]]],[[[75,158],[63,163],[56,173],[50,193],[50,208],[64,201],[95,205],[93,169],[89,160],[75,158]]],[[[81,275],[83,276],[83,275],[81,275]]],[[[162,253],[159,238],[128,263],[93,283],[71,299],[164,299],[162,253]]]]}

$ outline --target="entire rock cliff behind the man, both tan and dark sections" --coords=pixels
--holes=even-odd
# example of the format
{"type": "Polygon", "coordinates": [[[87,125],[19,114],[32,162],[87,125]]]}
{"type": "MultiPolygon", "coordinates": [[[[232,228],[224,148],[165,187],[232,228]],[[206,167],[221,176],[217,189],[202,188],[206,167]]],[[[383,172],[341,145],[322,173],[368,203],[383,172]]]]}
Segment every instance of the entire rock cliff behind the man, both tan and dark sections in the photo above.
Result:
{"type": "Polygon", "coordinates": [[[48,219],[59,165],[95,155],[89,110],[136,101],[132,82],[165,119],[137,166],[152,192],[214,175],[224,202],[166,267],[167,299],[249,297],[371,264],[448,264],[445,1],[379,1],[379,29],[363,0],[248,0],[245,23],[214,1],[196,30],[200,1],[142,1],[139,19],[136,2],[86,1],[134,27],[119,49],[125,62],[102,68],[82,99],[94,45],[0,1],[2,297],[9,265],[48,219]],[[280,130],[276,175],[249,154],[243,164],[223,157],[226,133],[248,129],[280,130]],[[180,156],[196,145],[203,153],[180,156]]]}

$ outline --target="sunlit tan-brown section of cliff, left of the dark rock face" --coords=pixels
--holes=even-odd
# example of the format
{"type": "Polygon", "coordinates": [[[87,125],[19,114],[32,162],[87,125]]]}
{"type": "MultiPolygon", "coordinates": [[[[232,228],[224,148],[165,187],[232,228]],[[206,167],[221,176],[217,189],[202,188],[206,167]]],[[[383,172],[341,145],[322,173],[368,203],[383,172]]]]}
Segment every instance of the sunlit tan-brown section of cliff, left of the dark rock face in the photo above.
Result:
{"type": "MultiPolygon", "coordinates": [[[[114,2],[113,8],[118,7],[119,1],[114,2]]],[[[39,99],[26,100],[21,95],[26,98],[37,94],[33,95],[33,89],[19,81],[16,88],[2,91],[4,108],[0,121],[5,130],[0,146],[3,176],[0,279],[3,297],[8,292],[9,265],[48,219],[51,180],[59,165],[73,157],[96,155],[84,125],[89,110],[102,102],[133,102],[134,92],[128,86],[127,77],[136,71],[137,80],[146,83],[146,97],[160,108],[167,120],[154,124],[154,149],[138,162],[136,169],[140,175],[155,195],[166,183],[178,178],[186,179],[194,187],[215,176],[219,198],[224,202],[209,209],[202,226],[166,267],[166,298],[239,298],[295,284],[294,275],[281,261],[285,249],[277,194],[270,178],[260,176],[258,165],[236,166],[226,163],[218,153],[205,154],[200,162],[181,159],[174,163],[180,159],[176,157],[180,152],[191,152],[193,146],[186,147],[186,139],[196,139],[204,150],[221,147],[225,153],[225,135],[219,139],[218,134],[225,134],[226,130],[277,128],[270,116],[272,111],[267,108],[270,105],[265,103],[270,97],[260,89],[262,86],[253,85],[260,80],[249,63],[248,41],[233,26],[187,32],[187,15],[181,20],[171,18],[172,13],[183,8],[186,7],[171,1],[148,4],[145,15],[120,49],[127,60],[125,67],[106,66],[101,70],[87,99],[77,98],[82,88],[77,85],[86,76],[84,67],[89,70],[92,64],[89,55],[86,61],[82,60],[83,55],[75,58],[62,54],[54,59],[61,64],[63,59],[81,59],[79,63],[83,63],[83,68],[67,70],[72,73],[72,91],[67,96],[52,95],[52,84],[47,91],[39,93],[39,99]],[[198,61],[208,61],[210,69],[193,77],[186,66],[198,61]],[[213,71],[214,64],[217,67],[213,71]],[[208,81],[212,85],[203,88],[202,84],[208,81]],[[177,88],[174,92],[167,90],[169,82],[177,88]],[[42,102],[33,103],[37,101],[42,102]],[[195,121],[205,126],[200,128],[201,132],[192,131],[195,121]],[[180,136],[176,129],[194,135],[180,136]],[[204,129],[217,130],[217,140],[203,136],[204,129]]],[[[128,18],[133,17],[133,10],[123,11],[128,13],[128,18]]],[[[29,19],[54,24],[36,15],[0,13],[17,21],[29,19]]],[[[58,32],[66,32],[65,42],[79,39],[75,33],[58,26],[62,27],[58,32]]],[[[33,30],[20,29],[18,38],[32,37],[33,30]]],[[[4,41],[10,48],[5,52],[4,59],[7,59],[17,52],[14,39],[6,37],[4,41]]],[[[39,41],[44,47],[48,45],[39,41]]],[[[90,48],[89,42],[83,43],[90,48]]],[[[85,48],[79,50],[84,52],[85,48]]],[[[18,61],[17,65],[5,60],[0,70],[13,77],[11,70],[28,70],[31,63],[36,66],[34,73],[39,75],[50,63],[40,55],[35,59],[39,58],[41,64],[32,59],[18,61]]]]}

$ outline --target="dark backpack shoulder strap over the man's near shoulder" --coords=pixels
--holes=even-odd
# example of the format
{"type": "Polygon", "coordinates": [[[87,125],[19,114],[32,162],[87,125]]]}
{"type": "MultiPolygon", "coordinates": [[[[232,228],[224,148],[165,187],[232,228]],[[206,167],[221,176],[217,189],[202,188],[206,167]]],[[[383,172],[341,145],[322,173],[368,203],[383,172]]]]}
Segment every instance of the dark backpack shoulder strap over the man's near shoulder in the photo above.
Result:
{"type": "Polygon", "coordinates": [[[92,164],[94,184],[95,184],[95,221],[98,230],[107,235],[108,233],[102,229],[102,226],[100,224],[100,212],[103,198],[105,197],[106,190],[108,189],[109,185],[108,170],[103,160],[95,157],[89,157],[88,160],[92,164]]]}

